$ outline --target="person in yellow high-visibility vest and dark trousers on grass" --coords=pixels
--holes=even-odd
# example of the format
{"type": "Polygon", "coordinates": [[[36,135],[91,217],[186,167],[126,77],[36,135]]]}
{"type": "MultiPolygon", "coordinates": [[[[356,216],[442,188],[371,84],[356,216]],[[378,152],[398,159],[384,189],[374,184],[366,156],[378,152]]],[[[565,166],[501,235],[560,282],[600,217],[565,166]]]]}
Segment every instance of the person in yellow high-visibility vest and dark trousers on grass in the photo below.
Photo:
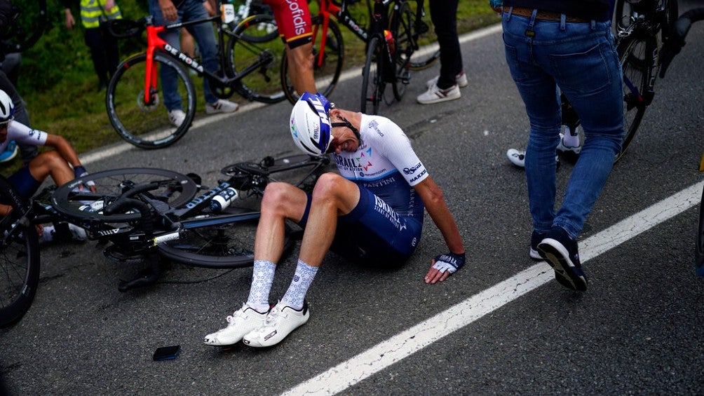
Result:
{"type": "MultiPolygon", "coordinates": [[[[66,28],[73,30],[76,22],[71,13],[74,0],[63,0],[66,28]]],[[[80,0],[80,15],[86,45],[90,49],[93,67],[98,75],[98,91],[108,87],[108,80],[118,68],[118,41],[105,29],[101,21],[120,19],[122,13],[115,0],[80,0]]]]}

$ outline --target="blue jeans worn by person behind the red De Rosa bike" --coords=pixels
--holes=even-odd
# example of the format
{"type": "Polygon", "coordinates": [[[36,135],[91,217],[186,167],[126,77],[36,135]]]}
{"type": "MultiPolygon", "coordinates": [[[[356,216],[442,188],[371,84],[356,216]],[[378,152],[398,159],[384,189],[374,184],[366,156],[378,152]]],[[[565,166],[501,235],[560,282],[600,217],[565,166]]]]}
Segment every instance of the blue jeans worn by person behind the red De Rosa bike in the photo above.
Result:
{"type": "MultiPolygon", "coordinates": [[[[170,25],[171,23],[177,22],[188,22],[190,20],[199,20],[203,18],[208,18],[208,12],[206,8],[203,7],[201,0],[185,0],[183,4],[178,8],[178,20],[174,22],[168,22],[164,19],[161,13],[161,8],[159,7],[158,1],[149,0],[149,10],[151,15],[154,17],[154,25],[170,25]]],[[[191,35],[196,40],[198,48],[201,52],[202,65],[205,70],[209,72],[215,72],[218,70],[218,44],[215,42],[215,34],[213,34],[213,24],[212,23],[197,23],[196,25],[190,25],[186,29],[191,33],[191,35]]],[[[180,30],[172,29],[162,32],[159,37],[164,39],[174,48],[181,48],[180,41],[180,30]]],[[[161,68],[161,89],[164,94],[164,106],[167,110],[183,110],[181,106],[181,96],[177,91],[178,80],[176,77],[176,72],[172,68],[161,68]]],[[[213,91],[210,91],[210,85],[208,84],[208,79],[203,77],[203,96],[206,98],[206,102],[215,103],[218,98],[213,95],[213,91]]]]}

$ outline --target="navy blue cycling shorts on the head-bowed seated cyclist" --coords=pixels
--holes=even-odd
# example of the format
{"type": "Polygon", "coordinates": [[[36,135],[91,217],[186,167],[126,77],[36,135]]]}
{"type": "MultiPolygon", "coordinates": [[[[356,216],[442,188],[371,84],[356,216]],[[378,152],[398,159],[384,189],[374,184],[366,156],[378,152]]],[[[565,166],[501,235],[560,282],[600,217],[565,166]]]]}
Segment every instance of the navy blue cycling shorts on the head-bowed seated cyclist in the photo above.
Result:
{"type": "MultiPolygon", "coordinates": [[[[422,222],[398,215],[372,191],[358,186],[359,203],[337,219],[337,231],[330,250],[348,260],[369,267],[395,269],[413,254],[422,222]]],[[[312,197],[298,225],[305,228],[312,197]]]]}

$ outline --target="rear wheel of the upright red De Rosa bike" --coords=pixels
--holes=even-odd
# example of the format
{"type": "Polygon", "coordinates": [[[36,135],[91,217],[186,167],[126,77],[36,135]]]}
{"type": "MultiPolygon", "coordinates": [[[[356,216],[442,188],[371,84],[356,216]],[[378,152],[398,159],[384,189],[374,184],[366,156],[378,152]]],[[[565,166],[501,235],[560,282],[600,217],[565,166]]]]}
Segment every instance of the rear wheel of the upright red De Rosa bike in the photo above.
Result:
{"type": "Polygon", "coordinates": [[[230,77],[242,75],[235,89],[242,97],[263,103],[278,103],[286,96],[278,79],[284,58],[284,42],[279,39],[271,15],[253,15],[228,32],[227,63],[230,77]],[[250,70],[262,56],[271,61],[250,70]]]}

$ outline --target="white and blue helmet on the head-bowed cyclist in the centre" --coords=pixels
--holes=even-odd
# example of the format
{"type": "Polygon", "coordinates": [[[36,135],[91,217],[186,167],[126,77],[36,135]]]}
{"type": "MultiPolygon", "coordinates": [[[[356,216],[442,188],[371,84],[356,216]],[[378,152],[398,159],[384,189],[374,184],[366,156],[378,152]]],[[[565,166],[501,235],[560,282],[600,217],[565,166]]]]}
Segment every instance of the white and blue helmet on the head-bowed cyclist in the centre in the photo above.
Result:
{"type": "Polygon", "coordinates": [[[306,92],[291,110],[291,136],[304,153],[319,156],[329,148],[332,126],[327,112],[330,108],[332,105],[325,96],[306,92]]]}

